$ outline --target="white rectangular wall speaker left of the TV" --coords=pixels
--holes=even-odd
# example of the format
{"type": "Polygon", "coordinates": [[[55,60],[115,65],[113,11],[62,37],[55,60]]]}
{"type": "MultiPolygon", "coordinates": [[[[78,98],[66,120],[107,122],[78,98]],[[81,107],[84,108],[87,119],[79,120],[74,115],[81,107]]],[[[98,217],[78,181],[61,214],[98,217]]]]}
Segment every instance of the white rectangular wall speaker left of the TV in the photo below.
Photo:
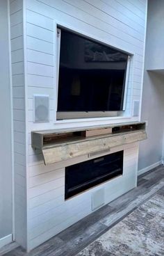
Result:
{"type": "Polygon", "coordinates": [[[49,122],[49,95],[33,95],[34,122],[49,122]]]}

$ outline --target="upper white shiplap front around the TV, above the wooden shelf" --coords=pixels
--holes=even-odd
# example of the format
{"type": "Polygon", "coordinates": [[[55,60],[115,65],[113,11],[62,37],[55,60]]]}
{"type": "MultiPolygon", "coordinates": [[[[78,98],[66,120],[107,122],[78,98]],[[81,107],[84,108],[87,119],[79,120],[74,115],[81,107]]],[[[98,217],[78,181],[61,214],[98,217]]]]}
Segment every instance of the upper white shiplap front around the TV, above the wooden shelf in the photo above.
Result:
{"type": "Polygon", "coordinates": [[[142,63],[145,41],[147,1],[95,0],[27,0],[27,84],[28,131],[101,125],[136,121],[131,117],[133,100],[141,98],[142,63]],[[78,31],[108,45],[122,49],[131,56],[126,111],[119,118],[90,118],[56,121],[56,24],[78,31]],[[50,122],[33,124],[33,94],[50,95],[50,122]],[[55,103],[54,103],[55,102],[55,103]],[[44,127],[44,128],[43,128],[44,127]]]}

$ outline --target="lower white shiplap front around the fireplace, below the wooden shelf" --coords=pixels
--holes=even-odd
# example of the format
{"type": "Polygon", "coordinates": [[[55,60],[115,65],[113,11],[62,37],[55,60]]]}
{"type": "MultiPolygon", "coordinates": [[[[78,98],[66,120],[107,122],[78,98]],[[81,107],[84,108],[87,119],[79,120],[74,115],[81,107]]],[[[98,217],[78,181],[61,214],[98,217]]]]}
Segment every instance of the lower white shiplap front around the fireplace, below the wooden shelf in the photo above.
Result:
{"type": "MultiPolygon", "coordinates": [[[[58,232],[92,212],[92,193],[104,188],[105,204],[136,186],[138,143],[115,147],[124,150],[124,174],[65,201],[65,166],[88,160],[88,156],[44,166],[33,161],[29,173],[29,249],[35,248],[58,232]]],[[[100,157],[97,155],[96,157],[100,157]]]]}

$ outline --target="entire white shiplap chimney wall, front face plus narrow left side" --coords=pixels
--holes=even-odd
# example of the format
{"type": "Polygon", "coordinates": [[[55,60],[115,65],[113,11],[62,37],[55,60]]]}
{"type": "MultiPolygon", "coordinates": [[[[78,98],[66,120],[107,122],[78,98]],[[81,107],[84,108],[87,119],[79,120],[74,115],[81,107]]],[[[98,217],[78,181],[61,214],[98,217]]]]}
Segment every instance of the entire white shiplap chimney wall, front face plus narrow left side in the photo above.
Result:
{"type": "Polygon", "coordinates": [[[147,0],[10,1],[10,10],[13,12],[10,13],[10,21],[11,24],[13,22],[11,49],[14,60],[13,109],[17,194],[15,204],[18,214],[16,222],[19,218],[22,220],[17,223],[16,231],[19,243],[28,250],[90,214],[92,191],[97,188],[104,187],[105,201],[108,203],[136,186],[138,143],[116,147],[112,151],[124,149],[122,177],[117,177],[65,201],[65,166],[88,158],[83,156],[44,166],[41,152],[34,152],[31,147],[31,131],[139,119],[139,117],[131,118],[131,111],[133,100],[140,101],[142,93],[146,7],[147,0]],[[124,116],[56,121],[56,24],[132,54],[124,116]],[[33,122],[33,94],[49,95],[48,123],[33,122]],[[23,223],[25,225],[21,230],[23,223]]]}

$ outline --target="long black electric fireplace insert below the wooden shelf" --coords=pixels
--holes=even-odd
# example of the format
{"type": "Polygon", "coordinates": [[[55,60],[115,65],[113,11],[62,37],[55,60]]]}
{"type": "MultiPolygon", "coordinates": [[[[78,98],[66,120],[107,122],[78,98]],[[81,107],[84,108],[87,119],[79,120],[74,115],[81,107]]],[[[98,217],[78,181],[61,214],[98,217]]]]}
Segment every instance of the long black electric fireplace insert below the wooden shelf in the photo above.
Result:
{"type": "Polygon", "coordinates": [[[123,173],[124,151],[76,163],[65,168],[65,199],[123,173]]]}

